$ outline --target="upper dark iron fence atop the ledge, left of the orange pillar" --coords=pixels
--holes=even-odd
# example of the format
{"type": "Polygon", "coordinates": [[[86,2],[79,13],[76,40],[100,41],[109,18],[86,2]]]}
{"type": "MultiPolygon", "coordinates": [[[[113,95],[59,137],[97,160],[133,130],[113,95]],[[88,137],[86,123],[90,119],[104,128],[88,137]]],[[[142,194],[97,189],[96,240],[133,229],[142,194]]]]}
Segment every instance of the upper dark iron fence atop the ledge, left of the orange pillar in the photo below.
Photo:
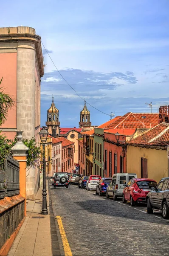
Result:
{"type": "Polygon", "coordinates": [[[20,165],[9,155],[4,170],[0,170],[0,199],[20,193],[20,165]]]}

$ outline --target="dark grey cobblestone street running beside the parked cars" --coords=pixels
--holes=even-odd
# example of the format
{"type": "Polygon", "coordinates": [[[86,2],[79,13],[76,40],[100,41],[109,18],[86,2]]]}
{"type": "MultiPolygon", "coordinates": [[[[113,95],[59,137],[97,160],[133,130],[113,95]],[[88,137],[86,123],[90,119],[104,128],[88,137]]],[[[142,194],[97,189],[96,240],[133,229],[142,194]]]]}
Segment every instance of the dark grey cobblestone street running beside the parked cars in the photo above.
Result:
{"type": "Polygon", "coordinates": [[[95,195],[95,191],[53,189],[54,215],[62,217],[73,256],[169,255],[169,221],[161,212],[148,215],[146,205],[130,207],[95,195]]]}

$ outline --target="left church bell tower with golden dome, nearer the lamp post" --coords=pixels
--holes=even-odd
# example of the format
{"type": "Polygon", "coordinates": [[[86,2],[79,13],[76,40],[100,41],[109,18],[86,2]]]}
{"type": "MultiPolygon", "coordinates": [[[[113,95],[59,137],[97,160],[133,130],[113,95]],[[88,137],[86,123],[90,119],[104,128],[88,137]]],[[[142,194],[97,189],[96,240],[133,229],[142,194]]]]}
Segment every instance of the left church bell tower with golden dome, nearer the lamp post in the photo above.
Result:
{"type": "Polygon", "coordinates": [[[59,110],[54,104],[54,97],[52,97],[51,108],[47,111],[47,122],[48,133],[53,137],[59,137],[60,133],[60,122],[59,122],[59,110]]]}

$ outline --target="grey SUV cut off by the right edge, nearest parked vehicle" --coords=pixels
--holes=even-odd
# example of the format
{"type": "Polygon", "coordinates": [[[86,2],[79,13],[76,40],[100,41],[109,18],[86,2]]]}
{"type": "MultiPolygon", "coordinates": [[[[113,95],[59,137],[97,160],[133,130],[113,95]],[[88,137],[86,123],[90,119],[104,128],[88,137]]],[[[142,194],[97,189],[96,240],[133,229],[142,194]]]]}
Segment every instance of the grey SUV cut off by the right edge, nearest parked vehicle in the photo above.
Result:
{"type": "Polygon", "coordinates": [[[156,187],[152,187],[152,191],[146,196],[146,202],[147,213],[160,209],[163,218],[169,218],[169,177],[161,179],[156,187]]]}

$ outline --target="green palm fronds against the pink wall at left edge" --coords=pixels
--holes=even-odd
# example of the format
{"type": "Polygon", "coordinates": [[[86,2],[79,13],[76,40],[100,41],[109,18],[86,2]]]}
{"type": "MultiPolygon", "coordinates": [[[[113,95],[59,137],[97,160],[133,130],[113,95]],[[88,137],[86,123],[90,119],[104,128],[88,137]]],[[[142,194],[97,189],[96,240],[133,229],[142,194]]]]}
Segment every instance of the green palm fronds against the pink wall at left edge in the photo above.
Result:
{"type": "MultiPolygon", "coordinates": [[[[0,80],[0,84],[3,80],[0,80]]],[[[14,105],[13,99],[8,94],[4,93],[3,87],[0,87],[0,125],[2,125],[8,116],[8,109],[14,105]]]]}

